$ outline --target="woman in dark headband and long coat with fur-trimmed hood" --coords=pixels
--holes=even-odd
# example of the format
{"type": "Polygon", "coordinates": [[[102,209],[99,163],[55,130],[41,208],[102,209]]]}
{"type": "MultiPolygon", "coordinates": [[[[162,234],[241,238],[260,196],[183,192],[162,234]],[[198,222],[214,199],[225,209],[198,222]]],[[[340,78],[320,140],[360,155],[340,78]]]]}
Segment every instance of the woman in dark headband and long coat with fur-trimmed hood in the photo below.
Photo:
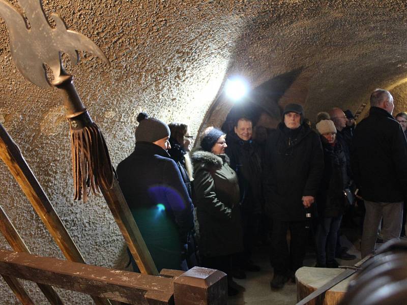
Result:
{"type": "MultiPolygon", "coordinates": [[[[225,155],[225,134],[210,127],[192,154],[201,265],[225,272],[231,283],[231,255],[243,250],[239,184],[225,155]]],[[[238,291],[228,285],[228,294],[238,291]]]]}

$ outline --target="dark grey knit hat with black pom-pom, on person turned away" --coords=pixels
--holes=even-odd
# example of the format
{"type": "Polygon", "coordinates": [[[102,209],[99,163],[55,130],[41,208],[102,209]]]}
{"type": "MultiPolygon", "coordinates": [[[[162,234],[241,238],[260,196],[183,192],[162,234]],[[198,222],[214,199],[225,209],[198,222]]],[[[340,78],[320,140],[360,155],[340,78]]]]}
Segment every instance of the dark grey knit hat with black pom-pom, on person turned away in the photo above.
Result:
{"type": "Polygon", "coordinates": [[[162,138],[169,137],[171,134],[167,124],[154,117],[149,117],[147,113],[140,112],[137,115],[137,121],[139,124],[135,132],[136,142],[153,143],[162,138]]]}

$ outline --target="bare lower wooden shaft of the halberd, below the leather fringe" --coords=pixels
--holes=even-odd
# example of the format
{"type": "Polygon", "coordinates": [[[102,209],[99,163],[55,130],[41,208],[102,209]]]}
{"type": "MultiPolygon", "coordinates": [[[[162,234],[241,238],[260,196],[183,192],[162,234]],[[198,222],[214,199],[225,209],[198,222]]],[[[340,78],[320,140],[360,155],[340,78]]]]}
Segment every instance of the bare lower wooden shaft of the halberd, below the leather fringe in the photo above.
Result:
{"type": "Polygon", "coordinates": [[[119,181],[113,178],[113,186],[110,188],[104,184],[101,191],[140,272],[158,276],[157,267],[134,221],[133,215],[131,215],[122,189],[119,186],[119,181]]]}

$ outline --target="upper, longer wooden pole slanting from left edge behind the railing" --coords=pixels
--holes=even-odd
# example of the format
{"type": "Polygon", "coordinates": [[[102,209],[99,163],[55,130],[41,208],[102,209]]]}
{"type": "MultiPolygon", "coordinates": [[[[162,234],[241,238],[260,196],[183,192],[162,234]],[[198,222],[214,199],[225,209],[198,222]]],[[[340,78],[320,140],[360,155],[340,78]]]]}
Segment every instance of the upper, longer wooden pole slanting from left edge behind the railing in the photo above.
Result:
{"type": "MultiPolygon", "coordinates": [[[[68,260],[84,263],[84,259],[76,247],[75,242],[69,235],[60,217],[56,214],[54,207],[47,195],[34,176],[31,168],[21,154],[20,148],[13,141],[6,129],[0,124],[0,158],[9,168],[21,190],[30,200],[43,221],[45,227],[55,240],[58,247],[68,260]]],[[[109,305],[109,300],[94,298],[96,304],[109,305]]]]}

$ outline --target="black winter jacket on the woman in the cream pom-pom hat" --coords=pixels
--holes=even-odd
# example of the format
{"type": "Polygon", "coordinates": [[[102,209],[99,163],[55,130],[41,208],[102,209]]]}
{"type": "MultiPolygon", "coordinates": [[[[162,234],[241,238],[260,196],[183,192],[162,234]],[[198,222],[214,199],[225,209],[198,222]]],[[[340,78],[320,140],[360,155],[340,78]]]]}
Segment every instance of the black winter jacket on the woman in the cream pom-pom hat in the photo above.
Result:
{"type": "Polygon", "coordinates": [[[338,217],[345,212],[346,198],[343,190],[350,182],[346,172],[346,157],[338,141],[332,146],[321,136],[321,142],[325,166],[316,195],[318,217],[338,217]]]}

